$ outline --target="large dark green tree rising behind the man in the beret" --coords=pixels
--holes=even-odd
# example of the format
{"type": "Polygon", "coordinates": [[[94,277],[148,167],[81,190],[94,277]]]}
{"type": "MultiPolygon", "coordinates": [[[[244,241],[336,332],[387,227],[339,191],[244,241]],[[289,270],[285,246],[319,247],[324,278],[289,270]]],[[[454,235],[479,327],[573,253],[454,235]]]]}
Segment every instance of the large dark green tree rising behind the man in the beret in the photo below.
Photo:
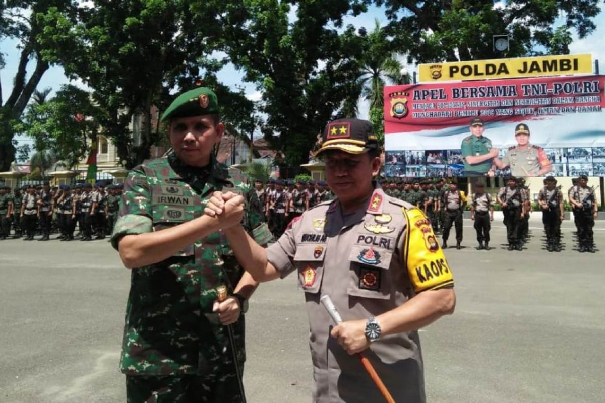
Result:
{"type": "Polygon", "coordinates": [[[80,4],[82,18],[76,24],[60,13],[47,16],[53,28],[45,39],[59,46],[45,57],[93,89],[106,112],[98,123],[127,168],[148,158],[149,147],[160,140],[154,107],[163,111],[175,89],[192,88],[199,76],[214,80],[226,63],[209,55],[217,49],[221,18],[230,3],[102,0],[92,8],[80,4]],[[129,128],[133,115],[143,117],[137,136],[129,128]]]}

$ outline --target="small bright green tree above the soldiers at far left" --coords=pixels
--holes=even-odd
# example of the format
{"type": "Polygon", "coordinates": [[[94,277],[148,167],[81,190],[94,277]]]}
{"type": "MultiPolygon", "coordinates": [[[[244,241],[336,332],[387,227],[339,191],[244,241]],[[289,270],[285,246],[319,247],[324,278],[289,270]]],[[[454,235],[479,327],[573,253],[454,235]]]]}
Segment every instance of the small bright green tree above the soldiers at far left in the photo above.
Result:
{"type": "MultiPolygon", "coordinates": [[[[87,141],[96,141],[97,121],[104,113],[93,104],[91,94],[73,85],[63,85],[50,100],[30,103],[16,129],[34,140],[36,150],[49,150],[69,168],[85,155],[87,141]]],[[[48,95],[48,94],[47,94],[48,95]]]]}

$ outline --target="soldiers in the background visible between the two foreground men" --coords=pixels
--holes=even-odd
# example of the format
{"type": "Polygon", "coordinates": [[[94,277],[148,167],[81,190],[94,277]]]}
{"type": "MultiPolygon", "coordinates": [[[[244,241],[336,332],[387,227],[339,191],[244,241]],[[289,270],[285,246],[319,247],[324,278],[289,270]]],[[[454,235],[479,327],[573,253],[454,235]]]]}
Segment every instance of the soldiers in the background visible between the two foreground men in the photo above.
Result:
{"type": "Polygon", "coordinates": [[[334,198],[325,181],[270,179],[266,186],[262,181],[255,181],[255,190],[276,239],[284,233],[290,221],[309,208],[334,198]]]}

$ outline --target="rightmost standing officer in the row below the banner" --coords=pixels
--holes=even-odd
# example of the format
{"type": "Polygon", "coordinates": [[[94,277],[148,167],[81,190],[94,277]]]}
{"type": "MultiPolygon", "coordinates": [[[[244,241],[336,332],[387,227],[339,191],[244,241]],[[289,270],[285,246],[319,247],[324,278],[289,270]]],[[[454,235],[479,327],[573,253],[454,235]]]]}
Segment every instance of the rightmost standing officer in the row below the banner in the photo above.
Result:
{"type": "Polygon", "coordinates": [[[595,218],[598,216],[595,189],[588,187],[588,176],[580,175],[578,184],[569,193],[569,202],[574,205],[577,217],[578,250],[580,252],[595,252],[594,234],[595,218]]]}

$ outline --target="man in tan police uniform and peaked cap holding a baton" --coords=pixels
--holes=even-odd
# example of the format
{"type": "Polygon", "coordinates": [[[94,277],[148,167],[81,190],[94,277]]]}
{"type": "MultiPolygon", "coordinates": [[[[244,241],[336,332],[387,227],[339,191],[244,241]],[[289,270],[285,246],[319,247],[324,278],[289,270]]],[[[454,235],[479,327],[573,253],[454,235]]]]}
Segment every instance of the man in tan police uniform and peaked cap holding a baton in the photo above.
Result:
{"type": "MultiPolygon", "coordinates": [[[[267,250],[239,225],[224,234],[255,279],[296,272],[310,321],[314,402],[382,401],[354,355],[362,351],[394,401],[425,402],[417,330],[454,311],[450,265],[422,211],[376,187],[380,151],[368,121],[333,121],[322,140],[317,154],[335,200],[306,211],[267,250]],[[323,295],[342,324],[319,303],[323,295]]],[[[215,193],[206,213],[228,213],[231,197],[215,193]]]]}

